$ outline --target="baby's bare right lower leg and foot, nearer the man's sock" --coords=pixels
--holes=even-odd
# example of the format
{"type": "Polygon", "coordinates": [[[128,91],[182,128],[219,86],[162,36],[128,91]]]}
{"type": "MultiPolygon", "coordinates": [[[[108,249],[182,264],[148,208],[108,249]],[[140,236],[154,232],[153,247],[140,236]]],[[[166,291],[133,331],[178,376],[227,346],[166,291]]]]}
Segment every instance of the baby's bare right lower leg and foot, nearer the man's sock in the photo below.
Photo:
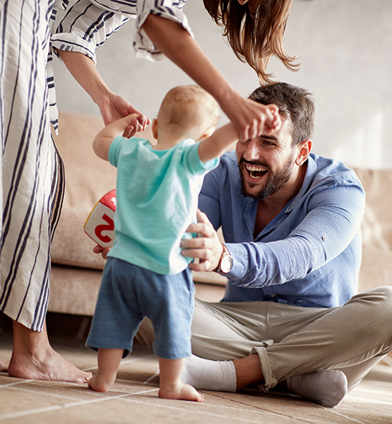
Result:
{"type": "Polygon", "coordinates": [[[203,402],[204,396],[181,380],[185,359],[159,358],[160,389],[158,396],[165,399],[203,402]]]}

